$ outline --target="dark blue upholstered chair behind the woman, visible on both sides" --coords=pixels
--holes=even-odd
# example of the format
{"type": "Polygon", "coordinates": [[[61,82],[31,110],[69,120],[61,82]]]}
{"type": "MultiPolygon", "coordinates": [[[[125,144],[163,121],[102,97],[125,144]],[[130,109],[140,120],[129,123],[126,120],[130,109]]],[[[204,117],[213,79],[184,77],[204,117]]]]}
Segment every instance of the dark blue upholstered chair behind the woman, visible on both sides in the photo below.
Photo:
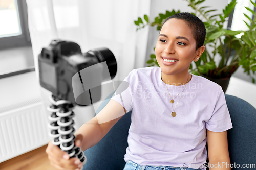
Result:
{"type": "MultiPolygon", "coordinates": [[[[233,128],[227,131],[231,164],[240,164],[240,168],[247,163],[255,165],[256,109],[240,98],[226,94],[225,97],[233,124],[233,128]]],[[[103,101],[96,114],[109,101],[109,97],[103,101]]],[[[123,157],[128,146],[127,136],[130,125],[131,111],[126,113],[98,144],[84,151],[87,163],[83,169],[122,170],[125,165],[123,157]]]]}

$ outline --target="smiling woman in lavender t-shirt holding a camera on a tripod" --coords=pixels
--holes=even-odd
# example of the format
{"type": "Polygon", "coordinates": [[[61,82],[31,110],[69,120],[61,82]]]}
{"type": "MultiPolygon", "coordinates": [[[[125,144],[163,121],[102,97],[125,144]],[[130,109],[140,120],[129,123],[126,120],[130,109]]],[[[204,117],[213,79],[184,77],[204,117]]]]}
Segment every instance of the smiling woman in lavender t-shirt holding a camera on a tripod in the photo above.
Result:
{"type": "MultiPolygon", "coordinates": [[[[204,52],[205,34],[203,22],[190,13],[167,18],[155,50],[160,68],[131,71],[124,79],[129,88],[81,126],[75,144],[82,150],[92,147],[133,109],[124,170],[205,169],[206,141],[210,167],[230,164],[226,131],[232,123],[224,93],[216,83],[188,72],[204,52]]],[[[51,141],[47,153],[58,169],[82,167],[51,141]]]]}

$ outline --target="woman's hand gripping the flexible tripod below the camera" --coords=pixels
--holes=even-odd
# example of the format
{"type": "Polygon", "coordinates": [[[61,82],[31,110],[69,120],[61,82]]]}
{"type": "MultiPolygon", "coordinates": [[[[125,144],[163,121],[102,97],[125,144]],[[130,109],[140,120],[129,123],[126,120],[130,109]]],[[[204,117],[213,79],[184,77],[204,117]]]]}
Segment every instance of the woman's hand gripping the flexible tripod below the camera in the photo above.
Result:
{"type": "MultiPolygon", "coordinates": [[[[78,134],[75,139],[75,145],[80,147],[82,142],[82,135],[78,134]]],[[[69,158],[69,154],[62,151],[59,147],[49,141],[46,153],[51,162],[51,165],[60,170],[80,169],[83,164],[78,158],[69,158]]]]}

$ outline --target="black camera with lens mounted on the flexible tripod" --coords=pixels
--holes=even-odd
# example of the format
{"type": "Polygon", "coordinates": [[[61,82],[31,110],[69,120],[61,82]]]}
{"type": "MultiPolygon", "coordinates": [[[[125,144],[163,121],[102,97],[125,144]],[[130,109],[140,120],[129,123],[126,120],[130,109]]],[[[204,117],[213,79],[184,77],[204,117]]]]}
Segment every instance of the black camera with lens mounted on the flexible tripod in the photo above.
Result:
{"type": "Polygon", "coordinates": [[[59,99],[84,106],[100,100],[99,82],[113,79],[117,72],[115,56],[108,48],[82,53],[80,46],[71,41],[53,40],[48,47],[42,48],[38,60],[40,85],[59,99]],[[92,69],[83,71],[87,68],[92,69]],[[94,85],[84,88],[83,84],[92,82],[94,85]],[[77,92],[79,88],[83,91],[77,92]]]}

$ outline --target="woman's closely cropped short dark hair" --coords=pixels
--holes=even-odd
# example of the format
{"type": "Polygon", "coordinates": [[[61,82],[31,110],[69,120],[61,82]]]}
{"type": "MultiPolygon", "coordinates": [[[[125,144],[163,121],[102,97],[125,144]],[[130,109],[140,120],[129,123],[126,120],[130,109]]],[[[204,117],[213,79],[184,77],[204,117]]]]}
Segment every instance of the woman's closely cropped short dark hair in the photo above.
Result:
{"type": "MultiPolygon", "coordinates": [[[[163,25],[167,20],[172,19],[172,18],[182,19],[188,24],[189,27],[191,27],[193,37],[196,40],[196,50],[198,48],[200,48],[202,45],[204,45],[206,29],[205,29],[204,23],[201,19],[199,19],[195,15],[190,14],[188,12],[181,12],[181,13],[177,13],[177,14],[174,14],[174,15],[168,17],[163,22],[163,25]]],[[[161,31],[163,25],[161,26],[160,31],[161,31]]]]}

